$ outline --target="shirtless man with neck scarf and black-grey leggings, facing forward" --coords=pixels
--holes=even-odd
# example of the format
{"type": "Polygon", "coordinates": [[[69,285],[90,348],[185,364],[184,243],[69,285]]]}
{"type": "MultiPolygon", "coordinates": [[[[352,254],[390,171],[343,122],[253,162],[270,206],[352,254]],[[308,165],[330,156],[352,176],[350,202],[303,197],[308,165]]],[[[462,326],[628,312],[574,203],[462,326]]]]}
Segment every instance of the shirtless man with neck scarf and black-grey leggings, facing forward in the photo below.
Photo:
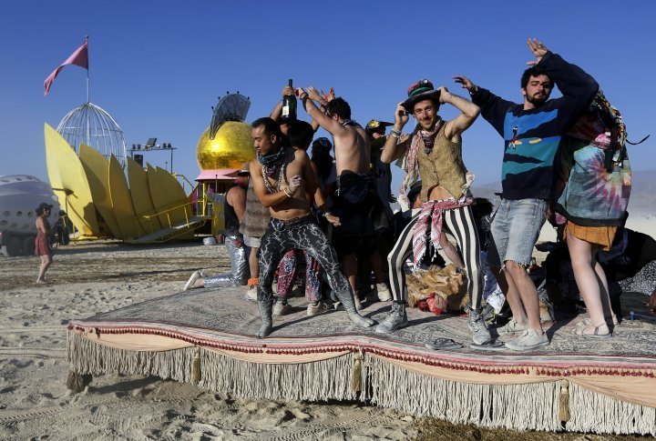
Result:
{"type": "Polygon", "coordinates": [[[260,118],[251,129],[257,157],[251,161],[251,180],[255,194],[272,215],[260,245],[260,285],[258,306],[262,325],[257,336],[273,330],[272,281],[280,260],[292,249],[307,251],[323,267],[333,292],[342,302],[355,326],[374,326],[374,321],[355,310],[353,293],[340,270],[334,248],[311,215],[313,195],[318,185],[303,150],[281,145],[279,125],[272,118],[260,118]]]}

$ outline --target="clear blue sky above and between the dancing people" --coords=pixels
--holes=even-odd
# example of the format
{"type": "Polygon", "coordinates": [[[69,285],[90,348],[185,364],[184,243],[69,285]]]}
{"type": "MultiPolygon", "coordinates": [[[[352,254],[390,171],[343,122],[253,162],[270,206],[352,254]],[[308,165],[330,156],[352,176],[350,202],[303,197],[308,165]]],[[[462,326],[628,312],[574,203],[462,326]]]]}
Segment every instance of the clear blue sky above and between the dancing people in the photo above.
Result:
{"type": "MultiPolygon", "coordinates": [[[[249,122],[270,114],[288,78],[334,87],[363,125],[393,121],[407,86],[421,78],[466,95],[451,78],[466,75],[521,102],[530,37],[593,75],[636,141],[654,132],[654,17],[656,2],[633,0],[11,0],[0,18],[0,175],[47,181],[43,125],[56,127],[86,102],[87,71],[65,67],[46,97],[43,83],[85,35],[91,102],[117,120],[128,146],[157,137],[177,147],[174,171],[190,179],[200,172],[196,146],[211,106],[226,91],[250,96],[249,122]]],[[[445,119],[456,115],[449,107],[440,111],[445,119]]],[[[405,132],[413,126],[411,118],[405,132]]],[[[656,170],[655,146],[656,134],[630,146],[633,170],[656,170]]],[[[500,180],[502,155],[500,136],[483,118],[463,135],[475,185],[500,180]]],[[[169,153],[145,160],[164,167],[169,153]]],[[[402,174],[393,168],[396,193],[402,174]]]]}

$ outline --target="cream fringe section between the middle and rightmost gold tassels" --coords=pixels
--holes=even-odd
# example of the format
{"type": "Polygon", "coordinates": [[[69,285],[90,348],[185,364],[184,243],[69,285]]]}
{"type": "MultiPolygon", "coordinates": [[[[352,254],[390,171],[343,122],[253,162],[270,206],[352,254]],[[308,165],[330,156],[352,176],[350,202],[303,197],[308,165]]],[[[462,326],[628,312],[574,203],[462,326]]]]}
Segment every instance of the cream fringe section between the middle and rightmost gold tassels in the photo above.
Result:
{"type": "Polygon", "coordinates": [[[372,401],[416,416],[516,430],[562,429],[558,381],[526,385],[474,385],[423,376],[366,356],[372,401]]]}

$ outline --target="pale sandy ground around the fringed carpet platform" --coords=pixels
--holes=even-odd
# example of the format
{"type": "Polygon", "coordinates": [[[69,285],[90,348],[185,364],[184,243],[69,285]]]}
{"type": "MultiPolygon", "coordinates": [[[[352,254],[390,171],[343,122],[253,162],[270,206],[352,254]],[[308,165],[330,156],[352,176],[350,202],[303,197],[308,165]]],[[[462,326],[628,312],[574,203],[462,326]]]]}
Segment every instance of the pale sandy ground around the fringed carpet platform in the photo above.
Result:
{"type": "Polygon", "coordinates": [[[453,426],[360,403],[242,400],[143,376],[97,376],[72,394],[70,320],[169,295],[195,269],[227,271],[228,259],[199,243],[93,242],[60,247],[46,286],[34,282],[37,267],[36,257],[0,256],[0,439],[620,438],[453,426]]]}

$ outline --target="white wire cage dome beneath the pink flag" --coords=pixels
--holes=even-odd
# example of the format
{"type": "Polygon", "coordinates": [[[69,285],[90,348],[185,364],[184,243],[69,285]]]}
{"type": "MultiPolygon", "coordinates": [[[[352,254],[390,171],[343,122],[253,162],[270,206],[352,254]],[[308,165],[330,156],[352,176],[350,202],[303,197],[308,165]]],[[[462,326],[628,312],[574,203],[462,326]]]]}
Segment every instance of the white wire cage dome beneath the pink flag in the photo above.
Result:
{"type": "Polygon", "coordinates": [[[101,107],[87,102],[68,112],[56,127],[59,135],[67,140],[79,154],[84,143],[95,148],[105,157],[115,155],[121,165],[125,163],[126,142],[116,120],[101,107]]]}

